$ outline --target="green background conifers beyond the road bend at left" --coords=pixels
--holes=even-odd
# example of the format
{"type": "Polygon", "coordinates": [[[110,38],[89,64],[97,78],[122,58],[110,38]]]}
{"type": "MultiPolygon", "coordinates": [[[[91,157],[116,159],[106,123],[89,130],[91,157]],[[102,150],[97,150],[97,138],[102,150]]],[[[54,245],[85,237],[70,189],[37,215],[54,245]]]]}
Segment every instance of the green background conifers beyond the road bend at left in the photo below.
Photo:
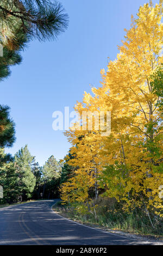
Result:
{"type": "Polygon", "coordinates": [[[0,185],[4,203],[59,197],[62,165],[54,156],[40,167],[27,145],[12,157],[0,149],[0,185]]]}

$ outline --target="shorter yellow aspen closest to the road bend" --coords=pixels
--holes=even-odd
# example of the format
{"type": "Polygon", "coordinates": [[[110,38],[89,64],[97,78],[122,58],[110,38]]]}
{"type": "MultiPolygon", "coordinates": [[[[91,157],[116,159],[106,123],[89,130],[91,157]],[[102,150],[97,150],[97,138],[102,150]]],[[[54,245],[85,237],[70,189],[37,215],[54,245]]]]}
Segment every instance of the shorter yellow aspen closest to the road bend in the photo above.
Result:
{"type": "Polygon", "coordinates": [[[68,164],[78,168],[75,170],[73,178],[62,184],[61,198],[65,202],[74,202],[74,200],[84,202],[89,197],[90,190],[95,191],[97,198],[98,175],[101,165],[97,157],[100,148],[96,143],[96,136],[92,131],[87,130],[67,131],[66,136],[68,141],[72,143],[71,154],[75,155],[73,159],[68,161],[68,164]],[[70,191],[72,192],[71,200],[70,191]]]}

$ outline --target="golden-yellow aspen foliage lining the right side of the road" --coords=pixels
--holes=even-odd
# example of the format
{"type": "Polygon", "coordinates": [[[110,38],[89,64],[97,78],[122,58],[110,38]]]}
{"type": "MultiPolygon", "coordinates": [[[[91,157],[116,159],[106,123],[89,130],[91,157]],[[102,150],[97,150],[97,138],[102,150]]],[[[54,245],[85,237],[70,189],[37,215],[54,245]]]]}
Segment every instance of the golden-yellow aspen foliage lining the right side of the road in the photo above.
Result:
{"type": "MultiPolygon", "coordinates": [[[[111,112],[111,134],[101,136],[96,129],[79,124],[66,132],[76,157],[70,164],[78,166],[75,175],[61,187],[66,202],[85,202],[93,186],[105,195],[124,202],[124,210],[143,208],[155,216],[162,215],[159,187],[163,185],[162,113],[159,96],[153,91],[153,75],[162,65],[162,0],[155,6],[140,7],[136,19],[118,47],[117,58],[101,70],[99,88],[84,93],[75,110],[111,112]],[[80,130],[76,129],[80,126],[80,130]],[[96,175],[95,175],[96,169],[96,175]]],[[[100,121],[100,120],[99,120],[100,121]]]]}

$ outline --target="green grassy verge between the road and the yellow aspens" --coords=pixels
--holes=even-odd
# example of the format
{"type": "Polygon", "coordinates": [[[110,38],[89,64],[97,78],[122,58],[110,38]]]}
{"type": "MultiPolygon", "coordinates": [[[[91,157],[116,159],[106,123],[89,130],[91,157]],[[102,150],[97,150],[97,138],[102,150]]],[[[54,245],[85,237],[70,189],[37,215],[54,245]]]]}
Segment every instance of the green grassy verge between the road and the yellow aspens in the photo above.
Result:
{"type": "Polygon", "coordinates": [[[114,213],[115,209],[110,210],[110,208],[115,208],[116,206],[116,204],[112,205],[112,202],[107,199],[99,200],[98,207],[96,208],[97,218],[89,212],[78,212],[77,204],[62,205],[61,202],[58,202],[53,206],[53,209],[58,214],[83,224],[93,225],[106,230],[120,230],[131,234],[163,239],[163,221],[161,219],[155,222],[155,227],[153,228],[145,212],[125,213],[118,209],[114,213]]]}

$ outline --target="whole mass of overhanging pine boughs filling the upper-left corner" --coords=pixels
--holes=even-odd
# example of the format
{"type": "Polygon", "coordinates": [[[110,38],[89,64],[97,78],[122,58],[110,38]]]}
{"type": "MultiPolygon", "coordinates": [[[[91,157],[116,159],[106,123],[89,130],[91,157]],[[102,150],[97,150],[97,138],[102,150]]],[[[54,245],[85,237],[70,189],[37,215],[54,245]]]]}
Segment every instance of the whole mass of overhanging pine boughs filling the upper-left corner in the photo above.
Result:
{"type": "Polygon", "coordinates": [[[0,3],[0,44],[3,56],[0,81],[10,66],[21,62],[20,50],[32,39],[57,38],[67,28],[68,16],[60,3],[48,0],[3,0],[0,3]]]}

